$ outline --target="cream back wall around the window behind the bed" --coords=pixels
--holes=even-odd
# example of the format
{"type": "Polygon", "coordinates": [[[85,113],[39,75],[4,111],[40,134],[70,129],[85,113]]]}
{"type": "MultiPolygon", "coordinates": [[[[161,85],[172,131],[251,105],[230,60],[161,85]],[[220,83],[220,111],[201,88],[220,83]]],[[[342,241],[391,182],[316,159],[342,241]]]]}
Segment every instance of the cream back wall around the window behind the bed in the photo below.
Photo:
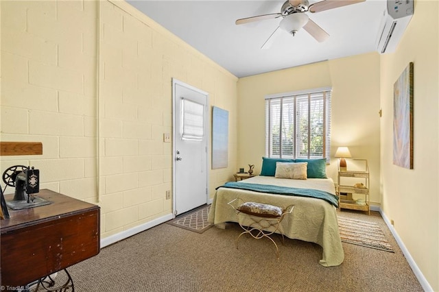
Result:
{"type": "MultiPolygon", "coordinates": [[[[367,159],[370,201],[379,204],[379,55],[319,62],[239,79],[238,166],[261,171],[265,155],[265,95],[332,86],[331,163],[327,174],[337,182],[337,147],[348,146],[353,158],[367,159]],[[251,130],[249,130],[251,129],[251,130]]],[[[349,161],[348,161],[349,163],[349,161]]]]}

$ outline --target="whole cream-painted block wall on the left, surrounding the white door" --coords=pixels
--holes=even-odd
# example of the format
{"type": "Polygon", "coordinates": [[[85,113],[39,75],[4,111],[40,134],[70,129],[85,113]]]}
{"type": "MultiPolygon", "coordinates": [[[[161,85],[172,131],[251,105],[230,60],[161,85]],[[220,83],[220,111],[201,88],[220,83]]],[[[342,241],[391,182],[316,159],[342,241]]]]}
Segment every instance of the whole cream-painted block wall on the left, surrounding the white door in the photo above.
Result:
{"type": "Polygon", "coordinates": [[[33,165],[41,188],[98,204],[102,238],[169,216],[175,77],[228,110],[228,168],[210,171],[211,196],[233,178],[235,76],[123,1],[0,9],[1,141],[43,142],[43,156],[2,157],[1,171],[33,165]]]}

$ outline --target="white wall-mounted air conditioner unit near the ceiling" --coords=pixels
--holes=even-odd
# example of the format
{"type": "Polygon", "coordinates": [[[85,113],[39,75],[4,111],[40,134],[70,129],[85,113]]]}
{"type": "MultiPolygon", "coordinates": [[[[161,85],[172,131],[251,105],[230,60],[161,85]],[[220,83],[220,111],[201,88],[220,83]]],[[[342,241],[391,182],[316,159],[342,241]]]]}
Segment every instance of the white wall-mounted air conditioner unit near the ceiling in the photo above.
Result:
{"type": "Polygon", "coordinates": [[[412,19],[414,0],[388,0],[387,9],[383,12],[383,19],[379,27],[377,51],[391,53],[398,46],[407,25],[412,19]]]}

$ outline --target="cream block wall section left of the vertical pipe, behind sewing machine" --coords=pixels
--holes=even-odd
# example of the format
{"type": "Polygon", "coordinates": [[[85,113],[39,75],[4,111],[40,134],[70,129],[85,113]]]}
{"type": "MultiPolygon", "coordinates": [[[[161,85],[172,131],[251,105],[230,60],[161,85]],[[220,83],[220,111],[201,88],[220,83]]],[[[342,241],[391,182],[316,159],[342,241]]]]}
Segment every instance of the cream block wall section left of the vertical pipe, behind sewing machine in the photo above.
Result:
{"type": "Polygon", "coordinates": [[[2,157],[0,171],[32,165],[40,188],[96,201],[97,3],[1,1],[0,10],[1,141],[43,143],[42,156],[2,157]]]}

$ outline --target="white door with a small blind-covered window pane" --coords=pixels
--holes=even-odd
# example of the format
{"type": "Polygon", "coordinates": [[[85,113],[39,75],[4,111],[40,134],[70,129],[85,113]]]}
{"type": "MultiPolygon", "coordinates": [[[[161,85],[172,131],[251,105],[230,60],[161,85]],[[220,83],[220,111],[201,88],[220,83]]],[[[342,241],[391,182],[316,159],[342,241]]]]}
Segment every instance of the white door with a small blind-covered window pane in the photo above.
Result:
{"type": "Polygon", "coordinates": [[[174,215],[207,203],[209,95],[172,80],[174,99],[174,215]]]}

